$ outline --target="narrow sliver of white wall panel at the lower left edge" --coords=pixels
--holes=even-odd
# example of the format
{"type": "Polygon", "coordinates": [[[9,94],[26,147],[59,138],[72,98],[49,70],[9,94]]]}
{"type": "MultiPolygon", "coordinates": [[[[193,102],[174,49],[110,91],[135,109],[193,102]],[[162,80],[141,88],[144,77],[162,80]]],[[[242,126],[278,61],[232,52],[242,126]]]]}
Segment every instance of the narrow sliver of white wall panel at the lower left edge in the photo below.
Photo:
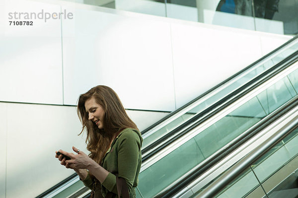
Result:
{"type": "Polygon", "coordinates": [[[5,197],[6,191],[6,132],[7,104],[0,102],[0,198],[5,197]]]}

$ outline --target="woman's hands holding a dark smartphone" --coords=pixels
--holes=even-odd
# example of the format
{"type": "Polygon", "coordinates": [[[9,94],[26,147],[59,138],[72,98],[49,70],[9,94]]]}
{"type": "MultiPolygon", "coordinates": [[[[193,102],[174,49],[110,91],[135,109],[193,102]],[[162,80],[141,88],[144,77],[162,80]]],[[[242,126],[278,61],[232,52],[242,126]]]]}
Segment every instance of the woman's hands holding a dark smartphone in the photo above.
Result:
{"type": "MultiPolygon", "coordinates": [[[[78,149],[73,147],[74,152],[77,152],[78,149]]],[[[90,164],[92,159],[86,155],[83,151],[79,151],[77,154],[66,152],[64,150],[59,150],[62,154],[70,157],[71,159],[66,160],[66,158],[63,158],[63,155],[60,155],[58,158],[61,161],[62,165],[65,165],[66,168],[74,169],[75,171],[79,171],[78,169],[86,169],[87,166],[90,164]]],[[[57,157],[56,152],[56,157],[57,157]]]]}

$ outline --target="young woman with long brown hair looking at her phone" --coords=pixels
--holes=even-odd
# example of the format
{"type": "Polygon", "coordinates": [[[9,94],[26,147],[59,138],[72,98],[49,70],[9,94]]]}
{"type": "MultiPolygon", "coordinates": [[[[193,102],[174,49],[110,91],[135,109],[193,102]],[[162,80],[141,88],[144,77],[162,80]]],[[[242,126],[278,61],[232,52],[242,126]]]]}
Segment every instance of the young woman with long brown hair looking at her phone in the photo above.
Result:
{"type": "Polygon", "coordinates": [[[77,154],[59,150],[62,154],[56,151],[56,157],[66,168],[74,169],[94,198],[120,194],[135,198],[143,139],[117,94],[107,86],[93,87],[80,95],[77,113],[83,126],[81,133],[87,131],[90,154],[73,147],[77,154]]]}

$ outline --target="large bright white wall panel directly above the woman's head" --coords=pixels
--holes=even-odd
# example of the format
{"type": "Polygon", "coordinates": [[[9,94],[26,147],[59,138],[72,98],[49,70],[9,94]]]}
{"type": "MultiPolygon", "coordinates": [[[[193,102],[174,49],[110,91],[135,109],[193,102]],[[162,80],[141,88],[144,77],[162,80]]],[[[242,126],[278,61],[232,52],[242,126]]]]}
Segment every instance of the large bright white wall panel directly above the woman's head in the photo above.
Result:
{"type": "Polygon", "coordinates": [[[75,24],[63,21],[65,104],[103,84],[126,108],[175,109],[168,23],[83,9],[74,16],[75,24]]]}

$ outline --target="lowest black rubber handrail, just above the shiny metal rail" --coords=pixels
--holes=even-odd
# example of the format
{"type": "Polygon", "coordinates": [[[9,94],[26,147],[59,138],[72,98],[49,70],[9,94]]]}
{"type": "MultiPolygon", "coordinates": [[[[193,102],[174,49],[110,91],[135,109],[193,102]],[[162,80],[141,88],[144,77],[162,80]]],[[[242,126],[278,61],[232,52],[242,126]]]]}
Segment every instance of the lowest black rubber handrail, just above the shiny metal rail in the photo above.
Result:
{"type": "MultiPolygon", "coordinates": [[[[292,57],[291,60],[288,62],[288,64],[292,64],[293,61],[298,61],[298,53],[296,53],[295,57],[292,57]]],[[[290,66],[290,65],[288,65],[290,66]]],[[[288,67],[285,65],[285,68],[288,67]]],[[[228,153],[231,151],[239,148],[241,145],[243,145],[245,142],[250,140],[252,137],[254,137],[257,133],[262,131],[264,128],[269,126],[272,122],[278,120],[281,116],[286,114],[289,110],[294,108],[295,106],[298,106],[298,96],[296,96],[294,99],[291,99],[288,101],[285,105],[280,107],[278,110],[274,111],[270,115],[266,116],[264,119],[262,119],[260,122],[258,122],[256,125],[254,125],[252,128],[246,131],[245,134],[241,135],[237,138],[237,140],[234,140],[231,144],[228,145],[228,147],[225,147],[224,149],[220,150],[217,155],[214,155],[208,159],[206,159],[203,163],[200,164],[193,172],[187,174],[185,177],[181,178],[181,181],[178,182],[176,185],[173,185],[171,188],[167,189],[166,191],[158,194],[156,198],[168,198],[170,196],[175,195],[177,192],[182,190],[185,186],[190,184],[192,181],[194,181],[196,178],[198,178],[200,175],[202,175],[204,172],[206,172],[210,167],[221,161],[228,153]]]]}

